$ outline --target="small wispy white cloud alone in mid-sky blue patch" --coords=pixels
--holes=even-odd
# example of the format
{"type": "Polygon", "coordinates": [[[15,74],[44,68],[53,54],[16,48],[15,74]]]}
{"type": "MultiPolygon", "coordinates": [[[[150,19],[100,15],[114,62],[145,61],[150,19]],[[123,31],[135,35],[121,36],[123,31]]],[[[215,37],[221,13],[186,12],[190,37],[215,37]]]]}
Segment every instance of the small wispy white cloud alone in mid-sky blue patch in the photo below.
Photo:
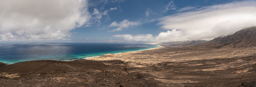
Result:
{"type": "Polygon", "coordinates": [[[116,31],[121,31],[123,28],[128,28],[128,27],[132,27],[135,25],[141,25],[140,21],[129,21],[127,19],[123,20],[122,22],[117,23],[116,21],[114,21],[113,23],[111,23],[108,27],[117,27],[113,30],[111,30],[111,32],[116,32],[116,31]]]}

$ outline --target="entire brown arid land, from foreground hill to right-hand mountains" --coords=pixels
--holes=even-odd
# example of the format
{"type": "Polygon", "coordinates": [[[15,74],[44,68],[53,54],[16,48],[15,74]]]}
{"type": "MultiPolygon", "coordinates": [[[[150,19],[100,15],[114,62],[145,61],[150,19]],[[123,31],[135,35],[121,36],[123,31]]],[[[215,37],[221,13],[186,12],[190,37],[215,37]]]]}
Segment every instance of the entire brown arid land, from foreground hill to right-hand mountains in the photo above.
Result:
{"type": "Polygon", "coordinates": [[[255,87],[256,27],[75,61],[0,63],[0,87],[255,87]]]}

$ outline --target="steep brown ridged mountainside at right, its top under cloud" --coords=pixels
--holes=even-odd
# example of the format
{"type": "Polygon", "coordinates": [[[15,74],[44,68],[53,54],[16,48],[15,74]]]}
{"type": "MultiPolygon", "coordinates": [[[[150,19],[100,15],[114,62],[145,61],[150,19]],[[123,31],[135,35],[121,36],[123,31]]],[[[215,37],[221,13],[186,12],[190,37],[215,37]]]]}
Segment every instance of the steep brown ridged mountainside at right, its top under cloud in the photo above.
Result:
{"type": "Polygon", "coordinates": [[[215,38],[209,42],[196,45],[200,48],[252,48],[256,46],[256,26],[244,28],[236,33],[215,38]]]}

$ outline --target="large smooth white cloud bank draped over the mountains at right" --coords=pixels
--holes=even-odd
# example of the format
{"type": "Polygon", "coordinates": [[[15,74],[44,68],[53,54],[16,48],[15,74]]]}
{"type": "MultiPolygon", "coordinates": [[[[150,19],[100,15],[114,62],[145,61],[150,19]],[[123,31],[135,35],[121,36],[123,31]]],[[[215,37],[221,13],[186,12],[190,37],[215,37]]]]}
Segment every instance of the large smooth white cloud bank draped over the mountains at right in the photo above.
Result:
{"type": "MultiPolygon", "coordinates": [[[[170,2],[171,3],[171,2],[170,2]]],[[[152,34],[123,34],[113,35],[123,37],[124,40],[167,42],[186,40],[212,40],[219,36],[226,36],[242,28],[256,26],[256,1],[232,2],[204,6],[201,8],[186,7],[180,12],[159,18],[158,25],[167,32],[152,34]]],[[[179,11],[179,10],[178,10],[179,11]]]]}

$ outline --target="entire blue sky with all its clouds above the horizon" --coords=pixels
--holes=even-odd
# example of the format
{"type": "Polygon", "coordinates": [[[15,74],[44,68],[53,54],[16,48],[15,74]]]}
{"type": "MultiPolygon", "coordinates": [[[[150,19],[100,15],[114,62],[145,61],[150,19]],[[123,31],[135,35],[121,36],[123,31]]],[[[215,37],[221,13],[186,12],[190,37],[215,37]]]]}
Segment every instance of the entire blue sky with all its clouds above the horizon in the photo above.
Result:
{"type": "Polygon", "coordinates": [[[256,0],[0,2],[0,42],[212,40],[256,25],[256,0]]]}

